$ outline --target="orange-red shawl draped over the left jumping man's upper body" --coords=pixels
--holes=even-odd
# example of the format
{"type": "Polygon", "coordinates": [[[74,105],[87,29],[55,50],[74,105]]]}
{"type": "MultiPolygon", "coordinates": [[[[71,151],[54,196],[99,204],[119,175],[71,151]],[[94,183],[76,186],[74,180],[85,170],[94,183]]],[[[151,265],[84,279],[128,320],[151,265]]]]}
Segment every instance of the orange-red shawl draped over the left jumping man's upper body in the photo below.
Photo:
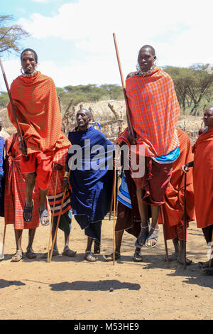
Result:
{"type": "MultiPolygon", "coordinates": [[[[62,134],[62,118],[55,83],[50,77],[35,72],[29,77],[16,77],[11,96],[18,122],[26,141],[27,153],[68,148],[70,142],[62,134]]],[[[9,119],[16,126],[11,104],[9,119]]]]}

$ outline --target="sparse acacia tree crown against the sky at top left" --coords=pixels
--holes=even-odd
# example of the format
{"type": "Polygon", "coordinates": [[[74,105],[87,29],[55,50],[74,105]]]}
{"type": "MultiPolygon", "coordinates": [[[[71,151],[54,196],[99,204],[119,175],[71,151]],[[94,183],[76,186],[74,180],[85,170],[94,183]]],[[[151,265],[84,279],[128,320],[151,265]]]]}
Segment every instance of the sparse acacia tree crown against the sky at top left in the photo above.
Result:
{"type": "Polygon", "coordinates": [[[19,41],[29,36],[27,31],[17,24],[11,24],[11,21],[13,21],[13,16],[0,15],[0,53],[19,52],[19,41]]]}

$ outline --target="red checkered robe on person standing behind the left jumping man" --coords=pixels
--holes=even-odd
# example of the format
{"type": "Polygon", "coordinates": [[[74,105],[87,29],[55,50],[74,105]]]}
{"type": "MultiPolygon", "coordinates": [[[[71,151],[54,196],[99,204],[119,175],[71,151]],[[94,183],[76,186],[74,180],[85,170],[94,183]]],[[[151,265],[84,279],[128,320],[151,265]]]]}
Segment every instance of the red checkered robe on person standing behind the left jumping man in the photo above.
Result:
{"type": "Polygon", "coordinates": [[[15,230],[35,229],[39,225],[39,188],[35,181],[33,189],[33,218],[31,222],[23,221],[23,207],[26,199],[25,176],[21,174],[21,152],[18,147],[18,136],[13,134],[5,141],[6,148],[6,178],[4,194],[5,224],[13,224],[15,230]]]}

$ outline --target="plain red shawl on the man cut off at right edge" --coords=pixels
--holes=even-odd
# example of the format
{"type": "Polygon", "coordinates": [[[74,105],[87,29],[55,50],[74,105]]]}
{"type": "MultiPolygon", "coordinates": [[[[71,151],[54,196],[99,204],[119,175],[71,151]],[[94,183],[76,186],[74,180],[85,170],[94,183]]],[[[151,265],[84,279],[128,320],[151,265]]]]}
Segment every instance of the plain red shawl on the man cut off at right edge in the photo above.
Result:
{"type": "Polygon", "coordinates": [[[213,225],[213,129],[198,137],[194,153],[193,181],[197,227],[213,225]]]}

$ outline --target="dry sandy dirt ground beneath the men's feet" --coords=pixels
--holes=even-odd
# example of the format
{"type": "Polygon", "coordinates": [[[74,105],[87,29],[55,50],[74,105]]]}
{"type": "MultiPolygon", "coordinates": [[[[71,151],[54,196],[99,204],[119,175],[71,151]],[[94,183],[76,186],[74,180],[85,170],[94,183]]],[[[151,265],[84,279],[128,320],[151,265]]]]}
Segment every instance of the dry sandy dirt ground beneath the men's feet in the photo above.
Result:
{"type": "MultiPolygon", "coordinates": [[[[0,240],[4,230],[1,218],[0,240]]],[[[84,259],[86,238],[72,220],[70,248],[74,258],[62,255],[47,263],[41,259],[47,251],[50,227],[38,227],[33,249],[37,259],[23,257],[11,262],[16,250],[13,225],[6,230],[5,259],[1,261],[0,318],[138,320],[138,319],[213,319],[213,279],[203,276],[199,261],[207,261],[207,247],[195,222],[188,229],[187,257],[193,260],[187,269],[178,262],[168,267],[162,227],[158,247],[142,249],[143,262],[133,262],[135,239],[124,233],[121,259],[104,262],[102,254],[113,247],[113,219],[102,225],[102,254],[89,263],[84,259]],[[112,290],[113,291],[110,291],[112,290]]],[[[23,250],[28,231],[23,231],[23,250]]],[[[58,231],[58,249],[64,236],[58,231]]],[[[169,252],[173,251],[168,242],[169,252]]]]}

